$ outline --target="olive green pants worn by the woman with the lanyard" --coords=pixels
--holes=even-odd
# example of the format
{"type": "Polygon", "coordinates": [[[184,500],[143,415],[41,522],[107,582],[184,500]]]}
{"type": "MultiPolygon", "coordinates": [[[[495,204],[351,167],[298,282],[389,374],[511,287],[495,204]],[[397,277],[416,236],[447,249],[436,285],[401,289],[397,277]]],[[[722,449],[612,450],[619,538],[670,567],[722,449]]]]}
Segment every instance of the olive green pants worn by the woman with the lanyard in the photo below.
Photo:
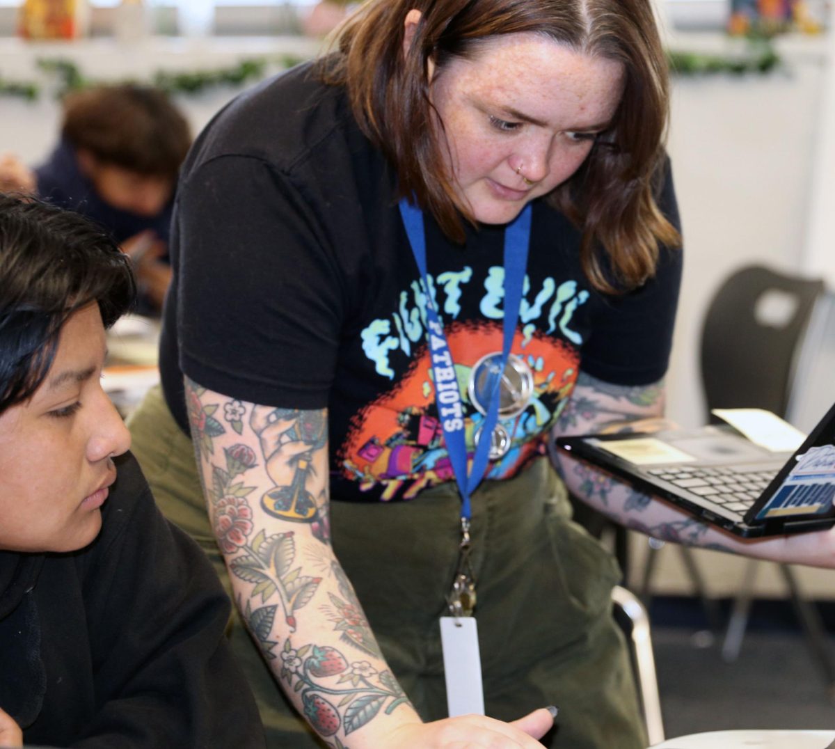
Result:
{"type": "MultiPolygon", "coordinates": [[[[129,422],[160,509],[205,549],[230,590],[204,509],[191,443],[158,389],[129,422]]],[[[570,519],[547,459],[473,495],[473,568],[487,714],[559,706],[546,746],[643,749],[624,638],[611,616],[614,559],[570,519]]],[[[453,484],[408,503],[331,503],[333,546],[388,664],[425,720],[446,716],[438,616],[453,579],[460,499],[453,484]]],[[[231,644],[269,746],[320,746],[286,701],[237,614],[231,644]]]]}

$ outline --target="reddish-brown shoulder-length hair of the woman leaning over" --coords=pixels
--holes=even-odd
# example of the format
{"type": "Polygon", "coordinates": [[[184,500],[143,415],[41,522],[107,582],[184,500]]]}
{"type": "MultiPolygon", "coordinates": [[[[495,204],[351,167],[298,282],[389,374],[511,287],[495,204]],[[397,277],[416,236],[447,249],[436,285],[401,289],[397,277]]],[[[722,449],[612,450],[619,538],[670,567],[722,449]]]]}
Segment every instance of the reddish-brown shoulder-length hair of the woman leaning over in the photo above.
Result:
{"type": "Polygon", "coordinates": [[[415,195],[446,235],[463,241],[461,216],[473,219],[450,182],[443,139],[435,137],[428,61],[440,70],[510,33],[544,34],[623,64],[625,89],[610,129],[547,200],[582,230],[581,261],[595,287],[640,285],[655,272],[659,242],[681,242],[655,203],[669,84],[649,0],[369,0],[342,26],[337,53],[318,69],[326,82],[347,86],[360,126],[397,171],[398,197],[415,195]],[[404,53],[403,23],[412,8],[422,16],[404,53]]]}

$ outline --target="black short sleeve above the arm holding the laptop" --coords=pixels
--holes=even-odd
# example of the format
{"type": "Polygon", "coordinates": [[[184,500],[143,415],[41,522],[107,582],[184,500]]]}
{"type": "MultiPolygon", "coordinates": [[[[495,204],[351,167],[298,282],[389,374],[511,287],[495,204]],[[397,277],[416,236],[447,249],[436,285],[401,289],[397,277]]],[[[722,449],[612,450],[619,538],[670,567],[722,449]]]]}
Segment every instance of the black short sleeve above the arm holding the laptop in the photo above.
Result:
{"type": "MultiPolygon", "coordinates": [[[[681,232],[669,159],[658,205],[681,232]]],[[[582,369],[619,385],[648,385],[664,377],[670,362],[683,266],[680,247],[662,246],[655,276],[620,296],[604,296],[593,333],[582,352],[582,369]]]]}

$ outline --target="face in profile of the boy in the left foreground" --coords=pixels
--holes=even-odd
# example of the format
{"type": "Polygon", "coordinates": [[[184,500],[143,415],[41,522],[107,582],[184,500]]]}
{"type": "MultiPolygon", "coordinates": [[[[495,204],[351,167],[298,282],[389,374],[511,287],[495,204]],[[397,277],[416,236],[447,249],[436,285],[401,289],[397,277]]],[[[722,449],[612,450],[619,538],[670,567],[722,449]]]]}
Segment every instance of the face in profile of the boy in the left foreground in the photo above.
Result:
{"type": "Polygon", "coordinates": [[[104,354],[99,306],[90,304],[64,324],[33,397],[0,415],[0,549],[71,551],[99,533],[112,458],[130,447],[101,386],[104,354]]]}

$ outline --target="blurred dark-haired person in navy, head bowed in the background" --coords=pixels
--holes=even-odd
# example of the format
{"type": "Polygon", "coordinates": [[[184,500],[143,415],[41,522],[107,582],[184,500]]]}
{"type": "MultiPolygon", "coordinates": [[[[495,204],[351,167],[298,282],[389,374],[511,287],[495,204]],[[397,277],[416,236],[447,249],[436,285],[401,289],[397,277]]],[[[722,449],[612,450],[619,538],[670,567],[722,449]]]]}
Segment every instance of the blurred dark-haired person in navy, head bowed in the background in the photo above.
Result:
{"type": "Polygon", "coordinates": [[[168,239],[189,124],[164,92],[134,84],[68,94],[61,139],[29,169],[0,157],[0,191],[33,193],[103,225],[134,261],[138,311],[158,315],[171,280],[168,239]]]}

